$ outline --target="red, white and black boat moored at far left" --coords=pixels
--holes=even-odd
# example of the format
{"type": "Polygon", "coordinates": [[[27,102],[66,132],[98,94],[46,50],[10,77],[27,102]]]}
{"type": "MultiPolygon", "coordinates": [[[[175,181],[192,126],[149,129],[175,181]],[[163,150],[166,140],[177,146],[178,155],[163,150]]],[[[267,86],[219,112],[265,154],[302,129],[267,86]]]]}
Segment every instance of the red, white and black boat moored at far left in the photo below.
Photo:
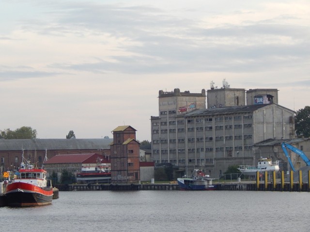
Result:
{"type": "Polygon", "coordinates": [[[24,207],[52,203],[52,183],[46,179],[47,172],[43,168],[35,169],[34,165],[26,160],[21,163],[19,173],[18,177],[6,187],[5,196],[9,206],[24,207]]]}

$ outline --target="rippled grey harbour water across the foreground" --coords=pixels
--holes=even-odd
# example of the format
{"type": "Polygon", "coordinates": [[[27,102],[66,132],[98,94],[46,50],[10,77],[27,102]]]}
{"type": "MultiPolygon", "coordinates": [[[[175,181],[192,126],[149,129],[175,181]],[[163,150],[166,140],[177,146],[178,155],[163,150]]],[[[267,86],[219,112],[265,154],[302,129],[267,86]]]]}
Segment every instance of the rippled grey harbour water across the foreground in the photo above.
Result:
{"type": "Polygon", "coordinates": [[[51,205],[0,208],[3,232],[308,232],[310,193],[72,191],[51,205]]]}

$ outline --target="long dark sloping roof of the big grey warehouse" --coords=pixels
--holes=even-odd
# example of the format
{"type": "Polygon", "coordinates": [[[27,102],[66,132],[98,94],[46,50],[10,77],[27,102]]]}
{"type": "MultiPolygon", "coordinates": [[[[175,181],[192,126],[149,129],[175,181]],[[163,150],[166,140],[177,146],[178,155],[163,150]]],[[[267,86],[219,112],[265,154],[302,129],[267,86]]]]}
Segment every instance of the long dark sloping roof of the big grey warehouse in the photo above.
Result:
{"type": "Polygon", "coordinates": [[[235,114],[235,113],[246,113],[253,112],[257,109],[263,108],[270,104],[257,104],[257,105],[242,105],[242,106],[227,106],[220,108],[210,108],[210,109],[199,109],[189,112],[185,117],[192,116],[203,116],[203,115],[225,115],[225,114],[235,114]]]}

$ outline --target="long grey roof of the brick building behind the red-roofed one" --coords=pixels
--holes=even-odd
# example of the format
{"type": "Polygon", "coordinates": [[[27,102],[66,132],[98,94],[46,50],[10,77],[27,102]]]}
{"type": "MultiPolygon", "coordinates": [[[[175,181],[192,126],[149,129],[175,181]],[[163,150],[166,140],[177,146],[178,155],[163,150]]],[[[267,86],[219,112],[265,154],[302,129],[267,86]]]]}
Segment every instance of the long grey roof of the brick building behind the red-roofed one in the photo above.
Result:
{"type": "Polygon", "coordinates": [[[0,150],[81,150],[109,149],[113,139],[0,139],[0,150]]]}

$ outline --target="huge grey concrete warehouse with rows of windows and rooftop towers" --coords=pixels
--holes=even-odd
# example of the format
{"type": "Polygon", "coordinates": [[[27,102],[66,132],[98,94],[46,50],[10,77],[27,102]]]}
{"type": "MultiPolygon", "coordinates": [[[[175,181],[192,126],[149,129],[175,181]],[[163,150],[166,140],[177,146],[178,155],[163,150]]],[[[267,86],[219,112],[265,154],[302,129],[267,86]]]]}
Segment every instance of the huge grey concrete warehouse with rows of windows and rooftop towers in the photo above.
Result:
{"type": "MultiPolygon", "coordinates": [[[[271,93],[275,95],[277,91],[272,89],[271,93]]],[[[208,90],[208,98],[216,96],[217,102],[208,100],[215,104],[206,109],[204,90],[202,96],[188,91],[181,93],[178,89],[173,93],[159,91],[160,116],[151,117],[155,163],[169,162],[187,168],[188,173],[203,166],[216,177],[232,164],[253,164],[253,157],[260,158],[254,144],[266,139],[294,138],[294,111],[273,103],[268,89],[251,91],[251,97],[264,100],[255,100],[252,105],[245,105],[242,89],[221,88],[211,92],[209,95],[208,90]],[[186,107],[177,104],[184,100],[183,94],[191,98],[186,107]],[[230,101],[228,96],[234,96],[234,100],[230,101]],[[190,108],[191,104],[196,107],[190,108]],[[218,107],[219,104],[224,107],[218,107]]]]}

